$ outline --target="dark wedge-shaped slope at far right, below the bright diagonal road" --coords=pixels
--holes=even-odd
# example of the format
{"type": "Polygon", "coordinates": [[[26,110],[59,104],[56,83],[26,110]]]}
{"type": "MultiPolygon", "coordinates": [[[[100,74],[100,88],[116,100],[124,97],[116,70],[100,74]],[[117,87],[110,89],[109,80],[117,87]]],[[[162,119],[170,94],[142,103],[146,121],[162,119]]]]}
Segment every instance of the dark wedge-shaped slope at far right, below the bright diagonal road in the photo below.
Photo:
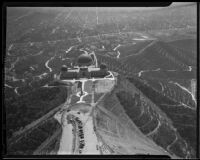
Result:
{"type": "MultiPolygon", "coordinates": [[[[174,98],[160,94],[160,92],[140,80],[130,78],[130,81],[171,119],[175,130],[184,138],[187,145],[190,144],[195,149],[196,136],[193,133],[196,132],[196,110],[177,102],[174,98]]],[[[192,153],[194,154],[194,150],[192,153]]]]}

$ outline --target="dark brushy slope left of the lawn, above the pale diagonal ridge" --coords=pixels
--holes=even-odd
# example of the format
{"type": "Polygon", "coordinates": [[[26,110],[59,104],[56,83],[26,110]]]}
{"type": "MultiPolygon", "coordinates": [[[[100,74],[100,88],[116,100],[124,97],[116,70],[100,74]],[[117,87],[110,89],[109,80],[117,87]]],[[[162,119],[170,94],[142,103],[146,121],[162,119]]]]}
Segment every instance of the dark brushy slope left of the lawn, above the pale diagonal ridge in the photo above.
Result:
{"type": "Polygon", "coordinates": [[[16,99],[6,101],[7,139],[29,123],[43,117],[55,107],[64,103],[65,88],[39,88],[16,99]],[[21,118],[18,118],[21,117],[21,118]]]}

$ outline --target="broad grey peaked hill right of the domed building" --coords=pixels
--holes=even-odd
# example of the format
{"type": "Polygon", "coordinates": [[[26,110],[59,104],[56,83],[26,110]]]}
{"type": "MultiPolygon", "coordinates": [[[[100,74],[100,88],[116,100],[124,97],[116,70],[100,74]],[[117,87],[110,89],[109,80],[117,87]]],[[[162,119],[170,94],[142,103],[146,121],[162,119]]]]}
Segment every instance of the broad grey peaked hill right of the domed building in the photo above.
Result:
{"type": "Polygon", "coordinates": [[[127,63],[134,68],[137,66],[138,72],[141,70],[188,70],[189,66],[196,65],[195,59],[186,58],[184,53],[180,54],[165,42],[155,41],[151,46],[147,47],[143,52],[131,55],[123,59],[123,63],[127,63]],[[190,62],[192,61],[192,63],[190,62]],[[162,62],[162,63],[160,63],[162,62]]]}

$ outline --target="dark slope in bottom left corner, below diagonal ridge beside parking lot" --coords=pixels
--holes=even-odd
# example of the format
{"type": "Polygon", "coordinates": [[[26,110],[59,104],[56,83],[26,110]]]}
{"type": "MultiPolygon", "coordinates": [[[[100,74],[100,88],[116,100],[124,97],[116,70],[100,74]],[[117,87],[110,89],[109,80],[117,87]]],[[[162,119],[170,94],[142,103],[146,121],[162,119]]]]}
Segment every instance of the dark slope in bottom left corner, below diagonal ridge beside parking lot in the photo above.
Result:
{"type": "MultiPolygon", "coordinates": [[[[40,153],[43,155],[45,155],[45,153],[49,154],[49,152],[55,149],[55,145],[58,145],[55,143],[59,142],[60,136],[61,126],[58,122],[54,118],[46,119],[45,122],[41,123],[39,126],[32,128],[32,131],[26,132],[25,135],[21,136],[20,140],[12,139],[12,143],[8,146],[7,154],[32,155],[37,152],[37,150],[40,150],[40,153]],[[54,134],[56,134],[56,136],[54,136],[54,134]],[[44,143],[49,144],[49,146],[45,146],[46,150],[42,150],[44,143]]],[[[54,151],[54,153],[55,152],[56,151],[54,151]]]]}

